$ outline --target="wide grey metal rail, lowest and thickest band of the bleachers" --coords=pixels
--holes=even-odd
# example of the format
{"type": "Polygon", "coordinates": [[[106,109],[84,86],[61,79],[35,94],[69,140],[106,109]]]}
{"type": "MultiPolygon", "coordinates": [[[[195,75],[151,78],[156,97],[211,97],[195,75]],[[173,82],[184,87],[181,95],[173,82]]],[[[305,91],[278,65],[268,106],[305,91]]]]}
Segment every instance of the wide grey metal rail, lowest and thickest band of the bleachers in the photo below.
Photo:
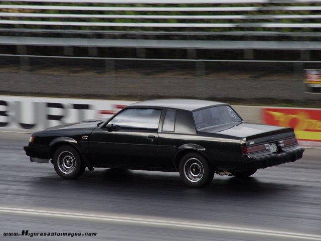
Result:
{"type": "Polygon", "coordinates": [[[145,40],[145,39],[80,39],[80,38],[0,38],[0,45],[69,46],[104,48],[153,48],[153,49],[225,49],[225,50],[321,50],[319,42],[308,41],[194,41],[194,40],[145,40]]]}

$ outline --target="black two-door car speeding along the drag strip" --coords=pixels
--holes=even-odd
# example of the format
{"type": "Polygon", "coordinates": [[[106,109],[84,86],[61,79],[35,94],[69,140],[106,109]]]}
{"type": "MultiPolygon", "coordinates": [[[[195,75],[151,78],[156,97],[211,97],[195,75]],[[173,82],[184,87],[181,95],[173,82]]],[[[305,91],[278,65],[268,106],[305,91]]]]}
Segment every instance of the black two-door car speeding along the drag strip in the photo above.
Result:
{"type": "Polygon", "coordinates": [[[86,167],[179,171],[192,187],[210,183],[214,173],[245,178],[304,151],[293,128],[246,123],[229,104],[191,99],[137,102],[106,121],[48,128],[24,149],[32,162],[50,160],[63,178],[86,167]]]}

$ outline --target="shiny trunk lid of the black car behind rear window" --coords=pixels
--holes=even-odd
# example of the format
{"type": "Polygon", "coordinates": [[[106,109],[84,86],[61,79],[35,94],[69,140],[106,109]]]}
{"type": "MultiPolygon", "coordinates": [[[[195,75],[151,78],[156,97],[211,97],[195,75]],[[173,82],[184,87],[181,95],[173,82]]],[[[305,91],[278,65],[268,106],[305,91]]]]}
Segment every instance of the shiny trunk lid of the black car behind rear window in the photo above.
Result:
{"type": "Polygon", "coordinates": [[[228,123],[203,129],[201,132],[216,133],[237,138],[253,137],[282,130],[282,127],[254,123],[228,123]]]}

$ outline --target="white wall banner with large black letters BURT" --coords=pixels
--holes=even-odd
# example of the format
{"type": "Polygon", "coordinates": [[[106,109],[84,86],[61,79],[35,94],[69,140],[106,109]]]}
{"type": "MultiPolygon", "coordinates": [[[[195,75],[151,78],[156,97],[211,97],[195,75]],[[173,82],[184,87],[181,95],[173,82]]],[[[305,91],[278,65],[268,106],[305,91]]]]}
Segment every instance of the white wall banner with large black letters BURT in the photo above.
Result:
{"type": "Polygon", "coordinates": [[[132,102],[0,96],[0,131],[32,133],[85,119],[106,119],[132,102]]]}

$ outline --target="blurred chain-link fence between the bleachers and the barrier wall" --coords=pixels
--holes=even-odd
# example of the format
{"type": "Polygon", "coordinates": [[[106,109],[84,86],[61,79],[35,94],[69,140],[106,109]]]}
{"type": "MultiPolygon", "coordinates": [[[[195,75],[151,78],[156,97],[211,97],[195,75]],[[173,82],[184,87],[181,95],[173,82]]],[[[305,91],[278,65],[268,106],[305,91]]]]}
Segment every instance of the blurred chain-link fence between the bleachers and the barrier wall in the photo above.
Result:
{"type": "Polygon", "coordinates": [[[0,58],[1,94],[233,103],[307,103],[304,70],[321,61],[245,61],[10,56],[0,58]]]}

